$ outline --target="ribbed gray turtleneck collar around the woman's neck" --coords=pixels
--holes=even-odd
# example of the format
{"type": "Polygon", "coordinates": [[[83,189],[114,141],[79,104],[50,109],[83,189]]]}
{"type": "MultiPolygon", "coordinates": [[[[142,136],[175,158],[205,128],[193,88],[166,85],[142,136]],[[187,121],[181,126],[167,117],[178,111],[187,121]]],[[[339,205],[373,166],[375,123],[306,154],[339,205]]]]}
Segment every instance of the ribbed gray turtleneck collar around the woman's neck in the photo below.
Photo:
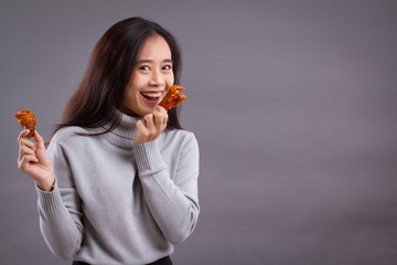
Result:
{"type": "MultiPolygon", "coordinates": [[[[115,115],[120,117],[120,125],[114,128],[108,134],[105,134],[105,137],[117,146],[131,148],[133,145],[132,140],[138,134],[138,128],[136,124],[141,118],[126,115],[118,109],[116,109],[115,115]]],[[[108,129],[110,128],[110,124],[104,127],[105,129],[108,129]]]]}

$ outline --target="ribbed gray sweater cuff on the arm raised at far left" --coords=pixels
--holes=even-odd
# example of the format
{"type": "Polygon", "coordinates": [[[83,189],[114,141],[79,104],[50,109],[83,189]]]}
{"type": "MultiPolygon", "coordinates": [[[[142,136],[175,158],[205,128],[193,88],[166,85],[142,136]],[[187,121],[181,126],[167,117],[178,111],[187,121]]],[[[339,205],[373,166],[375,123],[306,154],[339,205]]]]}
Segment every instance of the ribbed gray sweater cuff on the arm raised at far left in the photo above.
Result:
{"type": "Polygon", "coordinates": [[[43,212],[56,212],[62,209],[63,201],[57,184],[54,186],[52,191],[42,191],[35,184],[37,193],[37,204],[43,212]]]}

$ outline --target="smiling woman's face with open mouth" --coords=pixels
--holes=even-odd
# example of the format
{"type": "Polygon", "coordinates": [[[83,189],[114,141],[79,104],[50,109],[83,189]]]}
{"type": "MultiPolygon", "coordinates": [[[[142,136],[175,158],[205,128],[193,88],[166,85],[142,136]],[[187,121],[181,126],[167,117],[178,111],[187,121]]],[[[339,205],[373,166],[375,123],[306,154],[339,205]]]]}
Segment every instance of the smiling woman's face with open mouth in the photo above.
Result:
{"type": "Polygon", "coordinates": [[[173,85],[171,50],[160,35],[150,36],[138,54],[137,65],[124,94],[124,113],[144,116],[153,113],[173,85]]]}

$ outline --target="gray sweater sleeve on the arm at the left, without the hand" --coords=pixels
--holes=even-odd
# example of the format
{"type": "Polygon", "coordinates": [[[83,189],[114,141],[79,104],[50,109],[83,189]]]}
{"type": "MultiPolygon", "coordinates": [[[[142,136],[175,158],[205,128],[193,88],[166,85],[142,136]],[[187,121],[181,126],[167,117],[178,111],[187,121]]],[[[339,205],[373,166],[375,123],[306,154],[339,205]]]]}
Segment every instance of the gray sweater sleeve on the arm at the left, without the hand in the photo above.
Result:
{"type": "Polygon", "coordinates": [[[56,181],[51,192],[36,187],[40,229],[51,252],[68,259],[79,250],[83,239],[81,201],[62,148],[51,142],[47,152],[56,181]]]}

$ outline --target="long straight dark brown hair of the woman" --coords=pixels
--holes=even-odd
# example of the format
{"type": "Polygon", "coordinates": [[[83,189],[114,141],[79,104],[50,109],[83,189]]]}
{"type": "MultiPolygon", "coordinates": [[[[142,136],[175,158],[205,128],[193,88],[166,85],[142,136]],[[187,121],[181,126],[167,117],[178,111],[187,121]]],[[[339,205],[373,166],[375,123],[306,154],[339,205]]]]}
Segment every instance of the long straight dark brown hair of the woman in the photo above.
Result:
{"type": "MultiPolygon", "coordinates": [[[[62,123],[53,135],[67,126],[96,128],[107,124],[119,125],[115,115],[121,109],[125,88],[131,78],[137,56],[144,41],[152,35],[161,35],[168,42],[174,74],[174,84],[181,75],[181,52],[173,35],[155,22],[130,18],[114,24],[96,44],[83,81],[71,97],[62,116],[62,123]]],[[[168,128],[181,129],[178,107],[168,112],[168,128]]]]}

